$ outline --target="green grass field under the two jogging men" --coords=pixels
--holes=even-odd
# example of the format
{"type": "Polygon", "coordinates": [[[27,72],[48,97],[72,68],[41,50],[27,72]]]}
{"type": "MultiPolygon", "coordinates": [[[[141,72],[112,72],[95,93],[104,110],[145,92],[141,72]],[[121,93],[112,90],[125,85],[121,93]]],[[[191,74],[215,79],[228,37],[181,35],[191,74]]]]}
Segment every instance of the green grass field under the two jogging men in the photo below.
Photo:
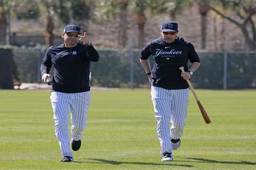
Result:
{"type": "Polygon", "coordinates": [[[92,91],[73,163],[61,163],[50,90],[0,90],[0,169],[256,169],[256,90],[190,94],[182,143],[161,162],[149,89],[92,91]]]}

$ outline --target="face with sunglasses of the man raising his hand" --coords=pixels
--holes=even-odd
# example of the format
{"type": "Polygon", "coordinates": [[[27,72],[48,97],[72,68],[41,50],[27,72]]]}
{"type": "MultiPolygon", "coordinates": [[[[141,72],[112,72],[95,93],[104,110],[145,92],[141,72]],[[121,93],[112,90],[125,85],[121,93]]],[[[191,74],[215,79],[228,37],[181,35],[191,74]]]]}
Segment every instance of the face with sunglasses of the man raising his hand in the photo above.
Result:
{"type": "Polygon", "coordinates": [[[78,43],[79,32],[66,32],[62,33],[61,37],[64,39],[64,43],[67,47],[75,47],[78,43]]]}

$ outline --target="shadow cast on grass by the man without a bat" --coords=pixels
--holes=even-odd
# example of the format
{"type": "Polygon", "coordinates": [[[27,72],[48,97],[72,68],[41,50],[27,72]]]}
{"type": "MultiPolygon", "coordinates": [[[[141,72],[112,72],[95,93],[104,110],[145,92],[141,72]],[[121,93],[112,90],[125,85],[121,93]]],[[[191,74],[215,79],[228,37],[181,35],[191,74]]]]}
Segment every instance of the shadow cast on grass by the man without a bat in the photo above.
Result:
{"type": "Polygon", "coordinates": [[[163,165],[163,166],[183,166],[183,167],[193,167],[191,165],[182,165],[182,164],[164,164],[164,163],[145,163],[145,162],[119,162],[114,160],[106,160],[106,159],[87,159],[87,160],[96,160],[98,162],[74,162],[74,163],[90,163],[90,164],[111,164],[111,165],[122,165],[122,164],[134,164],[134,165],[163,165]]]}

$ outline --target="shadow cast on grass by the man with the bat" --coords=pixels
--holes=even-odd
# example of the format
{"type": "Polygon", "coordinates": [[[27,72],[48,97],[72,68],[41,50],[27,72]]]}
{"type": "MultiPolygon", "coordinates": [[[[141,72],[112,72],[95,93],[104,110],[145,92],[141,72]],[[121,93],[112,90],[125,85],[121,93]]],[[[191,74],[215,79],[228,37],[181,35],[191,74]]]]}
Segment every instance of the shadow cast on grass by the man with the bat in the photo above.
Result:
{"type": "Polygon", "coordinates": [[[247,161],[241,161],[241,162],[231,162],[231,161],[219,161],[219,160],[211,160],[211,159],[203,159],[203,158],[186,158],[189,160],[178,160],[178,162],[195,162],[195,163],[217,163],[217,164],[242,164],[242,165],[256,165],[254,162],[247,162],[247,161]],[[195,161],[191,161],[195,160],[195,161]]]}

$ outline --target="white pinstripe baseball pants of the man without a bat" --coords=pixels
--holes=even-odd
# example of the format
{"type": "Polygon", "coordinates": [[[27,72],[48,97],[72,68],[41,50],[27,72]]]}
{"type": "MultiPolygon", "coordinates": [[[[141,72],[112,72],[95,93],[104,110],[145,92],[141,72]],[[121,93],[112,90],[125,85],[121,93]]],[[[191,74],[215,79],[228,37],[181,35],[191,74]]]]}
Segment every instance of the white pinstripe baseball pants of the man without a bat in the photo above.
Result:
{"type": "Polygon", "coordinates": [[[52,92],[51,102],[55,121],[55,135],[59,141],[62,156],[73,157],[68,132],[68,113],[71,112],[71,135],[80,140],[87,124],[87,112],[91,100],[90,91],[67,94],[52,92]]]}

